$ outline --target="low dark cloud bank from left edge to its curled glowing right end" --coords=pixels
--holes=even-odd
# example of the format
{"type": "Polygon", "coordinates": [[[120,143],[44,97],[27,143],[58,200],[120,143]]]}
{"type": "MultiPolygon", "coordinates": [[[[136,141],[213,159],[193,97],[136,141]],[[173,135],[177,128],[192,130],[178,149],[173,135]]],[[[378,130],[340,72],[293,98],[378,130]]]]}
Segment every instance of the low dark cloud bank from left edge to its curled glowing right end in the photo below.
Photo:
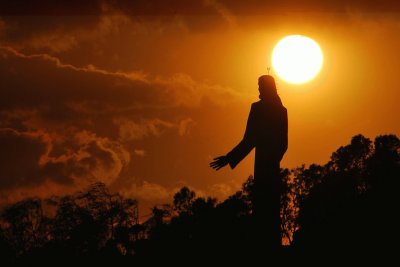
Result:
{"type": "Polygon", "coordinates": [[[45,182],[81,188],[95,181],[111,184],[129,163],[129,153],[116,142],[93,133],[78,132],[75,146],[57,144],[43,131],[0,129],[0,195],[18,188],[34,189],[45,182]],[[62,145],[63,154],[52,155],[62,145]]]}

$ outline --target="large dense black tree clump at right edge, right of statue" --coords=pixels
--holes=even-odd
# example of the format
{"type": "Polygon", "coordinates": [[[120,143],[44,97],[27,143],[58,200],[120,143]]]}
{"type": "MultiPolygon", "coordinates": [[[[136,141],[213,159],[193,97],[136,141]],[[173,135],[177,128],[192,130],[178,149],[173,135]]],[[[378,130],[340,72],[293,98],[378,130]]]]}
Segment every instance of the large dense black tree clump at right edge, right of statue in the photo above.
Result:
{"type": "Polygon", "coordinates": [[[378,136],[374,147],[371,143],[355,136],[323,166],[322,182],[300,201],[297,247],[374,255],[398,240],[385,229],[398,225],[391,214],[399,204],[399,140],[378,136]]]}

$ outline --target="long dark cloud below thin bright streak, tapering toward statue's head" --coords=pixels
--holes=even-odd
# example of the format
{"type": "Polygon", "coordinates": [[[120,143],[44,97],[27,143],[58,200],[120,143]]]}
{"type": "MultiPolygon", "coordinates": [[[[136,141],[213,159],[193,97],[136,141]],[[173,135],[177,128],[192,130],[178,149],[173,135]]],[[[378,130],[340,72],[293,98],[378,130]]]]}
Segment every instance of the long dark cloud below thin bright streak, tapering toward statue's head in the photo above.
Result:
{"type": "Polygon", "coordinates": [[[97,110],[97,104],[105,109],[193,106],[203,96],[219,101],[218,94],[236,95],[229,88],[197,83],[184,74],[147,79],[140,72],[76,67],[48,54],[25,55],[9,47],[0,47],[0,58],[0,79],[4,81],[0,110],[44,105],[55,110],[60,105],[66,110],[81,108],[81,112],[91,107],[97,110]],[[77,103],[82,105],[74,105],[77,103]]]}

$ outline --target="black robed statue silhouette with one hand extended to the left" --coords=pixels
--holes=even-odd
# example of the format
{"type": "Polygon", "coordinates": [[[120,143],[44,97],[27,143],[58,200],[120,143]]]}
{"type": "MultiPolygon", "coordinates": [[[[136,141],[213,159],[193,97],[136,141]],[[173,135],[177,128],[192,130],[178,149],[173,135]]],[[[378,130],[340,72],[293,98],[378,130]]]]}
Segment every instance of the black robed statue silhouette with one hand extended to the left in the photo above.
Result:
{"type": "Polygon", "coordinates": [[[258,90],[260,101],[251,105],[242,141],[227,155],[216,157],[210,163],[210,167],[219,170],[229,164],[233,169],[254,147],[256,148],[254,237],[261,239],[261,244],[268,249],[278,250],[281,247],[280,161],[288,146],[287,110],[278,96],[272,76],[260,76],[258,90]]]}

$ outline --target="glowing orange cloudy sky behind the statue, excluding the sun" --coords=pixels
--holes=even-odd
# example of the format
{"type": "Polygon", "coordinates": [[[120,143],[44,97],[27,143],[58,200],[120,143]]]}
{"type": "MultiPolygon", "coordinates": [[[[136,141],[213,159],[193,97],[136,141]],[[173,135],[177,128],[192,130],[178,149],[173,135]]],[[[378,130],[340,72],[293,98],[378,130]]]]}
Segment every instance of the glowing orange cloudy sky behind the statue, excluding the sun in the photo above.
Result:
{"type": "Polygon", "coordinates": [[[290,34],[316,40],[324,65],[303,85],[277,78],[283,167],[325,163],[358,133],[400,134],[394,1],[43,2],[0,8],[2,202],[96,180],[147,204],[182,185],[233,193],[253,156],[235,171],[208,163],[240,141],[257,78],[290,34]]]}

